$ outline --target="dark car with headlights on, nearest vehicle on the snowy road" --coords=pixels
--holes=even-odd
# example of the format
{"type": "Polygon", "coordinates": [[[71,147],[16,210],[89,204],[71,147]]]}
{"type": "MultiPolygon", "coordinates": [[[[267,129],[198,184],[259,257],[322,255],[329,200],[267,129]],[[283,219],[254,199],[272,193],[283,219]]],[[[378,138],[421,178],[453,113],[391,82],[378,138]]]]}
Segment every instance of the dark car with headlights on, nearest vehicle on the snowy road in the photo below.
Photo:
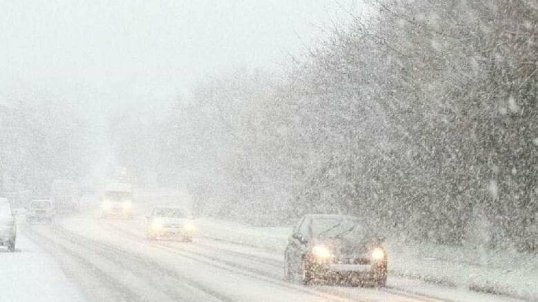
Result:
{"type": "Polygon", "coordinates": [[[388,254],[357,217],[306,215],[295,226],[284,252],[284,275],[303,284],[330,280],[384,287],[388,254]]]}

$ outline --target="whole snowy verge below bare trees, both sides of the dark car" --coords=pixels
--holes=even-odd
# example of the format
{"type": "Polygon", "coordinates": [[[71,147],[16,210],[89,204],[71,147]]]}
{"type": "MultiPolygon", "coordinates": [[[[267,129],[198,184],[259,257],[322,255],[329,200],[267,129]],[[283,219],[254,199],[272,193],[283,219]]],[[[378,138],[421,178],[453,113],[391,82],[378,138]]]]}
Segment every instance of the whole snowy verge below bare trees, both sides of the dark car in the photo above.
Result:
{"type": "MultiPolygon", "coordinates": [[[[199,234],[282,254],[292,228],[257,228],[217,219],[197,219],[199,234]]],[[[390,271],[397,276],[538,301],[538,258],[484,254],[461,247],[388,242],[390,271]],[[484,259],[490,259],[485,262],[484,259]]]]}

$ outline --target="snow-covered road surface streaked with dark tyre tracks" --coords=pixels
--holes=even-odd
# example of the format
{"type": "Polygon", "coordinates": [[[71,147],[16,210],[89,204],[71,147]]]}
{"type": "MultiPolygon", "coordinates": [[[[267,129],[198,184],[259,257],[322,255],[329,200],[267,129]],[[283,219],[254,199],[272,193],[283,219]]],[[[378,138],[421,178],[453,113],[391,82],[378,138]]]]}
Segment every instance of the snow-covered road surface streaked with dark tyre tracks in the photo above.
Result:
{"type": "Polygon", "coordinates": [[[150,242],[143,217],[81,214],[23,224],[21,234],[53,255],[90,301],[513,301],[396,277],[384,289],[287,283],[280,254],[208,238],[150,242]]]}

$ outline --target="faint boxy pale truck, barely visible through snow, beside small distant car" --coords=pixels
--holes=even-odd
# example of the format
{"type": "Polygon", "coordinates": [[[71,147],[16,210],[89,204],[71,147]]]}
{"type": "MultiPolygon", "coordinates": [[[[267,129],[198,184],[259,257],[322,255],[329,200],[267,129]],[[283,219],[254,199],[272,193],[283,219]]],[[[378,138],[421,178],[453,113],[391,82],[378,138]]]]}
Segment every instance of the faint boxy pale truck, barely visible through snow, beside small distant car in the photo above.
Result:
{"type": "Polygon", "coordinates": [[[58,213],[79,212],[79,188],[74,181],[54,181],[50,188],[50,193],[52,203],[54,203],[58,213]]]}

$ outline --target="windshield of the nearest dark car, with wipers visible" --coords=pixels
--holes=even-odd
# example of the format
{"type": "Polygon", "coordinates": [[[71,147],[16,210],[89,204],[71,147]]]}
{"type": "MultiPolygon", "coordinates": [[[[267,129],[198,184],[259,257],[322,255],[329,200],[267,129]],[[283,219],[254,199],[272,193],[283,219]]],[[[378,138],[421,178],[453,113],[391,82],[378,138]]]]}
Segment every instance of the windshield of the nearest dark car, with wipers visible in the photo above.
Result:
{"type": "Polygon", "coordinates": [[[355,235],[360,226],[358,219],[331,217],[312,219],[310,228],[314,237],[335,238],[355,235]]]}

